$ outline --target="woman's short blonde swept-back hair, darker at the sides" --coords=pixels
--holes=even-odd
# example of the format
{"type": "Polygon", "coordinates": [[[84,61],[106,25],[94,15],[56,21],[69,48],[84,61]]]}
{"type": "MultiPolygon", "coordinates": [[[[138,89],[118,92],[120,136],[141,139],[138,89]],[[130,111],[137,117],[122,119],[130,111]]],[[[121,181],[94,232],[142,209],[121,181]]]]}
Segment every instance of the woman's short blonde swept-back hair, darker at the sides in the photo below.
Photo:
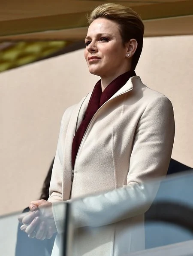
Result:
{"type": "Polygon", "coordinates": [[[104,3],[97,6],[88,17],[90,25],[95,19],[105,18],[116,22],[120,29],[123,44],[130,39],[136,39],[138,46],[132,59],[131,68],[134,70],[139,61],[143,48],[144,24],[141,17],[130,7],[122,6],[115,3],[104,3]]]}

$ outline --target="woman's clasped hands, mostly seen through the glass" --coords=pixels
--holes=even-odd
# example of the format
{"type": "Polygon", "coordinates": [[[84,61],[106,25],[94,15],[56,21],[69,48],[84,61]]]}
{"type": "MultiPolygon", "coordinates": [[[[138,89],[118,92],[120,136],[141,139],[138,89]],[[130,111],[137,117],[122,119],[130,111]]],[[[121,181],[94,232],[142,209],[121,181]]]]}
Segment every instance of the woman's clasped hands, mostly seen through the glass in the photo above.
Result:
{"type": "Polygon", "coordinates": [[[29,212],[18,216],[18,221],[22,224],[21,231],[26,232],[30,238],[50,239],[57,231],[52,212],[52,203],[41,199],[32,201],[29,207],[29,212]]]}

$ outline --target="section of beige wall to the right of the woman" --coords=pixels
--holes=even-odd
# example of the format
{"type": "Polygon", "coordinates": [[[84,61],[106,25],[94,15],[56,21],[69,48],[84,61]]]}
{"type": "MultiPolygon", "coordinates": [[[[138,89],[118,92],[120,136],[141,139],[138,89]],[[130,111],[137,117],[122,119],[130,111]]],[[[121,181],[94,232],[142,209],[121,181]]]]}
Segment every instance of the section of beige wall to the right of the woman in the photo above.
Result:
{"type": "Polygon", "coordinates": [[[165,94],[175,113],[172,157],[193,167],[193,36],[145,38],[136,72],[165,94]]]}

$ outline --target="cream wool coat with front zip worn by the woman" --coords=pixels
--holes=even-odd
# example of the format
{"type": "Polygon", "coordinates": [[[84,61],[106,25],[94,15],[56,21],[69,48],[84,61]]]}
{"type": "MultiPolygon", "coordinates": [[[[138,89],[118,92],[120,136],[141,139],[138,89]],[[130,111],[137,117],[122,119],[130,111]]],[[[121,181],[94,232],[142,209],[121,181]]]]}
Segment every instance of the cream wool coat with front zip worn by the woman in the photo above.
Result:
{"type": "MultiPolygon", "coordinates": [[[[140,77],[130,78],[90,121],[72,182],[72,140],[90,95],[63,115],[48,200],[71,202],[76,227],[72,255],[127,255],[144,249],[144,229],[134,224],[143,222],[158,188],[145,181],[166,175],[175,133],[173,108],[140,77]],[[79,197],[85,198],[75,200],[79,197]]],[[[63,205],[53,206],[58,233],[63,205]]],[[[57,247],[56,242],[53,256],[57,247]]]]}

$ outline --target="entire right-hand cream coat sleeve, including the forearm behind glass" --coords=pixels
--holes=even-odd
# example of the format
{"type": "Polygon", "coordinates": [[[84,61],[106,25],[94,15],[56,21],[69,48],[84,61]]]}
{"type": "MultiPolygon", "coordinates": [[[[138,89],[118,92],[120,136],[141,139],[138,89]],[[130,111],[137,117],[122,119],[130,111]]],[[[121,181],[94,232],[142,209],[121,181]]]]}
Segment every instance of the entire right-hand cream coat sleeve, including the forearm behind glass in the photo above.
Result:
{"type": "MultiPolygon", "coordinates": [[[[165,96],[151,100],[136,127],[127,185],[71,202],[76,227],[101,226],[145,213],[165,176],[172,154],[175,123],[172,104],[165,96]]],[[[63,204],[53,206],[58,232],[65,216],[63,204]]]]}

